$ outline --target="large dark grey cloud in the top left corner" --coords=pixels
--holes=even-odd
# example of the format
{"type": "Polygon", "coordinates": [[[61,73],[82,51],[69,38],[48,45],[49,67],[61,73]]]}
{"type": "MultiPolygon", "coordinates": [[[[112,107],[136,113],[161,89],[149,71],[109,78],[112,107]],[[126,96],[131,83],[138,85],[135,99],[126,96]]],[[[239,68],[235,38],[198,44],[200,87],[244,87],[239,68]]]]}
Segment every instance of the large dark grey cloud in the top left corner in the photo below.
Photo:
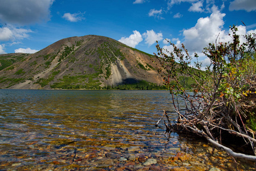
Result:
{"type": "Polygon", "coordinates": [[[0,21],[27,25],[48,21],[54,0],[1,0],[0,21]]]}

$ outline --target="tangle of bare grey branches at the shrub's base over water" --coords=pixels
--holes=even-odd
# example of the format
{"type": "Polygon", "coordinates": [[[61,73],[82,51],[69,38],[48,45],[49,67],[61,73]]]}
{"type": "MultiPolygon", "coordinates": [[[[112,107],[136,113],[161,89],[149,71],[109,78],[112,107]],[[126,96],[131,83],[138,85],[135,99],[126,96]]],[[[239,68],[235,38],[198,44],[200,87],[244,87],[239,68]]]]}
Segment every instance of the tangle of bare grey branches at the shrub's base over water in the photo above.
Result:
{"type": "MultiPolygon", "coordinates": [[[[166,116],[167,123],[164,121],[166,132],[192,132],[198,136],[205,137],[206,140],[214,146],[217,146],[217,148],[225,150],[230,156],[256,161],[255,132],[246,127],[244,123],[246,115],[243,112],[245,109],[242,108],[255,108],[256,76],[251,79],[251,82],[255,83],[250,89],[252,93],[248,93],[248,95],[242,97],[243,101],[251,101],[252,105],[239,104],[239,107],[238,103],[234,103],[233,99],[217,96],[217,87],[221,79],[222,78],[216,80],[216,88],[211,96],[206,92],[204,93],[204,91],[201,91],[201,94],[198,94],[186,92],[185,89],[181,94],[174,95],[172,92],[172,102],[175,111],[178,114],[178,118],[176,122],[171,124],[167,113],[164,111],[161,119],[156,125],[158,125],[163,117],[166,116]],[[180,100],[178,100],[178,98],[180,100]],[[182,109],[180,108],[180,101],[184,102],[185,110],[184,106],[182,106],[182,109]],[[230,113],[235,113],[235,115],[230,113]],[[225,136],[222,136],[223,133],[225,133],[225,136],[230,135],[234,138],[242,137],[245,142],[243,145],[250,147],[251,154],[254,154],[254,156],[251,154],[237,153],[230,148],[227,148],[221,143],[221,141],[225,139],[225,136]]],[[[204,88],[202,87],[202,89],[204,88]]]]}

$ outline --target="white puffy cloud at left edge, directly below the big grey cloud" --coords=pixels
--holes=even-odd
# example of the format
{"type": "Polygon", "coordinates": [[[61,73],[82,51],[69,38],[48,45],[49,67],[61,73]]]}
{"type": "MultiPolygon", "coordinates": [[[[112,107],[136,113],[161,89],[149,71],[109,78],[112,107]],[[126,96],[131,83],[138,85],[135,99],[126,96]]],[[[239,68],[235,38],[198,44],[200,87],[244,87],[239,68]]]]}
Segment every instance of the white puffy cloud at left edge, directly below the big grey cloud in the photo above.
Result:
{"type": "Polygon", "coordinates": [[[11,25],[0,27],[0,41],[14,41],[17,39],[28,38],[28,33],[32,32],[30,29],[15,28],[11,25]]]}

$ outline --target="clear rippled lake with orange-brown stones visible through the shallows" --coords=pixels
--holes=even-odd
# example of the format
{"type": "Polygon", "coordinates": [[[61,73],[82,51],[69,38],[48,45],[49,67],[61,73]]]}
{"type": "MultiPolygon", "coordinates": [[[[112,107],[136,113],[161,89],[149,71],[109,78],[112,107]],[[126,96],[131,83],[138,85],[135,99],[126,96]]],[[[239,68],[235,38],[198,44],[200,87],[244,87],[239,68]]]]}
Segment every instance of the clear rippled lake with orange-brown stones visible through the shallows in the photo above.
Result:
{"type": "Polygon", "coordinates": [[[165,133],[168,91],[0,89],[0,170],[255,170],[203,139],[165,133]]]}

